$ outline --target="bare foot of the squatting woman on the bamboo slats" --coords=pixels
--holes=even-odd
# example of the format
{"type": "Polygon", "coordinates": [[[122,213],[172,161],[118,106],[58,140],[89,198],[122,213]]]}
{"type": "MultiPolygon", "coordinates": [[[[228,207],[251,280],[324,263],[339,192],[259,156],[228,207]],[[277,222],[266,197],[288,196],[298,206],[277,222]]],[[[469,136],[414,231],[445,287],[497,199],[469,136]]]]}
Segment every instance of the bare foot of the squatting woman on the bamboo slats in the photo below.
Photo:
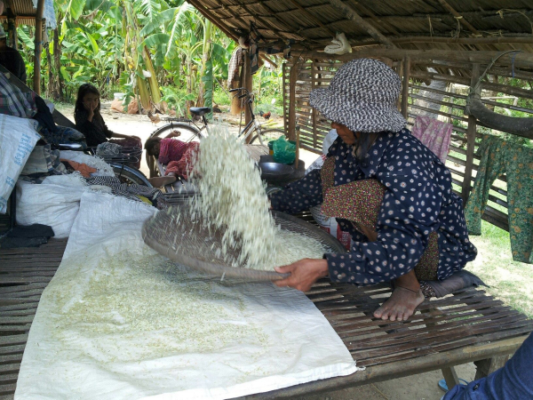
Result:
{"type": "Polygon", "coordinates": [[[402,286],[396,286],[393,294],[383,305],[374,311],[376,318],[391,321],[405,321],[415,312],[424,301],[424,294],[420,289],[412,291],[402,286]]]}

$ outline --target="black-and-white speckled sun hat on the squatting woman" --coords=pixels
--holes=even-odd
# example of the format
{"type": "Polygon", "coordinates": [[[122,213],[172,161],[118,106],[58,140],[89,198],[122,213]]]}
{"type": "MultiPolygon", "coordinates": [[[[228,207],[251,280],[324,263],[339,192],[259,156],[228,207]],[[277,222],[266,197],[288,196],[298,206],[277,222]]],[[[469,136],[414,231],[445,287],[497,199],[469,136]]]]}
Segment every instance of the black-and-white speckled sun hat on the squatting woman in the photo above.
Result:
{"type": "Polygon", "coordinates": [[[354,132],[401,131],[406,121],[396,108],[402,81],[381,61],[358,59],[338,68],[327,88],[309,94],[312,107],[354,132]]]}

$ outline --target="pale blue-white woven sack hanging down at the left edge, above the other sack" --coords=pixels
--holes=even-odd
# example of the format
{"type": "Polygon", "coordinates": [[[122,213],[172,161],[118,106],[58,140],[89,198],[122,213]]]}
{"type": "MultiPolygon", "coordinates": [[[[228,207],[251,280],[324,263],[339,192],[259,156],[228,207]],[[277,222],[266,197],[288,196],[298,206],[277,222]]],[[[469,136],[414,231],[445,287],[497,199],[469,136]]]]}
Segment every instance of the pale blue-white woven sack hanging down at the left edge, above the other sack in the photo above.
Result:
{"type": "Polygon", "coordinates": [[[41,139],[36,126],[33,119],[0,114],[0,213],[5,213],[20,172],[41,139]]]}

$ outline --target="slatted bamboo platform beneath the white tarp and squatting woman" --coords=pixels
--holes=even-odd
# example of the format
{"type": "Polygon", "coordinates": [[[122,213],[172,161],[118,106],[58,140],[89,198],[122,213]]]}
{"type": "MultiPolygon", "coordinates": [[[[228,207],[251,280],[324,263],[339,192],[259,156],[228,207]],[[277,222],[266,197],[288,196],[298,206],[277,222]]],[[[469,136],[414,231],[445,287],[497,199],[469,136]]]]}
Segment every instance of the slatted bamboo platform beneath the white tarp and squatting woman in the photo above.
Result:
{"type": "MultiPolygon", "coordinates": [[[[29,328],[66,244],[0,249],[0,400],[13,398],[29,328]]],[[[357,288],[324,279],[306,294],[366,370],[247,398],[304,396],[439,369],[453,385],[454,365],[476,362],[481,377],[505,364],[533,331],[533,321],[475,289],[426,300],[405,322],[371,316],[390,294],[385,285],[357,288]]]]}

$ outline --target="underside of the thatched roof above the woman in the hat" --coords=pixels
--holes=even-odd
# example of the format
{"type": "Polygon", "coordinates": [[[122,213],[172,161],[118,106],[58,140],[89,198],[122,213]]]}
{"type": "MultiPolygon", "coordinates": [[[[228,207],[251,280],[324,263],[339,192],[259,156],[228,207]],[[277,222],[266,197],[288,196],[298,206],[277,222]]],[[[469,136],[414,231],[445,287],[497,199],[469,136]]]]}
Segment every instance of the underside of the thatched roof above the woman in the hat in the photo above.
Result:
{"type": "Polygon", "coordinates": [[[267,46],[317,51],[344,32],[357,47],[533,52],[531,0],[189,0],[237,38],[254,23],[267,46]],[[499,41],[500,43],[497,43],[499,41]]]}

